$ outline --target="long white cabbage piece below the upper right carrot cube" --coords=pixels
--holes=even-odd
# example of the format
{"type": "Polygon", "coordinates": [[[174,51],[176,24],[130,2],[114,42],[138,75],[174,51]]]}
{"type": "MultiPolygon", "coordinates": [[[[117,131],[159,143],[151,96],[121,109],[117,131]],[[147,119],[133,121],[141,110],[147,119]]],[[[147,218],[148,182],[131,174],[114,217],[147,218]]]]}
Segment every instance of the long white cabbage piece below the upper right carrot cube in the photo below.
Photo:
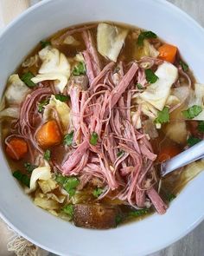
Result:
{"type": "Polygon", "coordinates": [[[145,102],[149,102],[158,110],[162,111],[169,97],[172,84],[177,80],[178,69],[169,62],[164,62],[156,70],[158,80],[152,83],[140,94],[145,102]]]}

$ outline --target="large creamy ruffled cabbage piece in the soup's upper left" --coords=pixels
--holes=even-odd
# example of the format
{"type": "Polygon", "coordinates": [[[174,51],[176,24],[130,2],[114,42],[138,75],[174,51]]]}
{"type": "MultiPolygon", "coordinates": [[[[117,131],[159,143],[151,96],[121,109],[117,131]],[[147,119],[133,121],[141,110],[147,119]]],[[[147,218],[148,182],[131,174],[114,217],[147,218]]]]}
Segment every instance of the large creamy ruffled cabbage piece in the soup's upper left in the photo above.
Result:
{"type": "Polygon", "coordinates": [[[42,64],[39,69],[39,75],[31,79],[32,82],[38,83],[45,80],[54,80],[56,89],[63,92],[70,76],[70,64],[67,57],[59,49],[47,46],[39,52],[42,64]]]}

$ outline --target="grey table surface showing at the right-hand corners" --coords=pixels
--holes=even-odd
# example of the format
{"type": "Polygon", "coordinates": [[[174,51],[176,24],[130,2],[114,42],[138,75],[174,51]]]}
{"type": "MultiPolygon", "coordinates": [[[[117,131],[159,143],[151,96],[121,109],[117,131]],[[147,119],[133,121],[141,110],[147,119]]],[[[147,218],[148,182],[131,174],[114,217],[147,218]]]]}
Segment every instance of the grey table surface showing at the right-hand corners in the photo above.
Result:
{"type": "MultiPolygon", "coordinates": [[[[5,0],[0,0],[0,3],[5,0]]],[[[13,0],[13,3],[19,4],[22,0],[13,0]]],[[[164,0],[163,0],[164,1],[164,0]]],[[[201,23],[204,27],[204,0],[168,0],[174,3],[182,10],[186,11],[190,16],[201,23]]],[[[32,1],[31,1],[32,2],[32,1]]],[[[37,2],[37,1],[33,1],[37,2]]],[[[0,4],[1,7],[1,4],[0,4]]],[[[0,29],[3,26],[3,16],[0,10],[0,29]]],[[[166,249],[150,254],[149,256],[203,256],[204,255],[204,221],[197,226],[194,231],[188,233],[182,240],[175,242],[175,244],[166,249]]],[[[50,256],[54,254],[50,253],[50,256]]]]}

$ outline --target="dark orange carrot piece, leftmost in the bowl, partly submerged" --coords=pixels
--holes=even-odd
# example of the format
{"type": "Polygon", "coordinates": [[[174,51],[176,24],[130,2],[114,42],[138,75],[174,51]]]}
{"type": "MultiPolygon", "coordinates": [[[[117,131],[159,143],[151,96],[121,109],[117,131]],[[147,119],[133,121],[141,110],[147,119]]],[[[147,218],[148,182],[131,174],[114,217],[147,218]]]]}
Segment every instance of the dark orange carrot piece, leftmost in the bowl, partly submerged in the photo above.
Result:
{"type": "Polygon", "coordinates": [[[6,146],[6,153],[13,160],[20,160],[28,152],[28,145],[26,141],[20,138],[13,138],[6,146]]]}

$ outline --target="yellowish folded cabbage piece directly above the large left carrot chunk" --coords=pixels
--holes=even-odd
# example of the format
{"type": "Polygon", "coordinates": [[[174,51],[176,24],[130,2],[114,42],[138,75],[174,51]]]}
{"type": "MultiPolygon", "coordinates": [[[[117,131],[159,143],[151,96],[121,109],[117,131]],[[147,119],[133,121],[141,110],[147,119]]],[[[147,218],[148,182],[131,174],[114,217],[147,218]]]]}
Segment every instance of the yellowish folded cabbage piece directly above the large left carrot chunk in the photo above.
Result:
{"type": "Polygon", "coordinates": [[[54,95],[51,95],[49,103],[44,109],[44,120],[48,120],[50,115],[53,115],[53,110],[51,108],[56,109],[64,128],[67,129],[70,123],[70,108],[67,106],[67,104],[57,100],[54,95]]]}

